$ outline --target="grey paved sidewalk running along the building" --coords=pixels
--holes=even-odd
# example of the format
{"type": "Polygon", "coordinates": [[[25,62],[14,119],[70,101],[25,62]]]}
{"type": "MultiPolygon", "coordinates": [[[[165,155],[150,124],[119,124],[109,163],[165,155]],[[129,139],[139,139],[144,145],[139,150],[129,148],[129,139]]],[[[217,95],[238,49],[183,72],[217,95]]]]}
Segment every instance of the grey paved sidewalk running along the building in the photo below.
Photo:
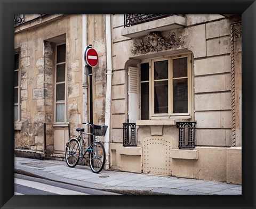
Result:
{"type": "Polygon", "coordinates": [[[142,173],[105,171],[93,173],[89,166],[69,168],[65,161],[14,157],[14,171],[121,194],[241,195],[242,186],[219,181],[163,177],[142,173]]]}

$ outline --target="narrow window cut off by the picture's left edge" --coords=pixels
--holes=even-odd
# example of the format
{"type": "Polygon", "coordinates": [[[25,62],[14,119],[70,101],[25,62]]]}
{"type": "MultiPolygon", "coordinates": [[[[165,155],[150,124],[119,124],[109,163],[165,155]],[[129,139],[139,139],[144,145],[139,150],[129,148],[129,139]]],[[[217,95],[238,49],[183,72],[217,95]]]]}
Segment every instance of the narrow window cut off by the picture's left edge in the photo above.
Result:
{"type": "Polygon", "coordinates": [[[19,59],[18,59],[19,67],[18,67],[18,69],[15,69],[15,66],[14,66],[14,72],[18,72],[18,86],[14,86],[14,89],[18,88],[18,103],[14,103],[14,106],[18,105],[18,120],[15,121],[15,113],[14,113],[14,123],[20,123],[21,122],[21,92],[20,92],[21,91],[21,69],[20,69],[20,52],[15,52],[14,56],[17,55],[17,54],[19,55],[19,59]]]}

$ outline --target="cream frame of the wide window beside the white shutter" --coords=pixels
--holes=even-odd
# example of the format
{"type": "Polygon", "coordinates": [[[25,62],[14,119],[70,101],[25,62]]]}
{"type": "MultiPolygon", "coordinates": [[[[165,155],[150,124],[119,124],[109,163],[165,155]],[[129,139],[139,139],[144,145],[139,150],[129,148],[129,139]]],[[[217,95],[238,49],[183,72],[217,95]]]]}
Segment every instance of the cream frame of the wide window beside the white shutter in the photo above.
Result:
{"type": "MultiPolygon", "coordinates": [[[[154,119],[191,119],[193,117],[193,54],[192,53],[181,53],[169,56],[162,56],[156,58],[147,58],[141,60],[140,64],[149,63],[149,120],[154,119]],[[187,113],[173,113],[173,60],[177,58],[187,57],[187,78],[188,79],[188,112],[187,113]],[[154,113],[154,63],[157,61],[168,60],[168,113],[154,113]]],[[[141,73],[140,64],[139,77],[141,73]]],[[[183,78],[183,77],[180,77],[183,78]]],[[[179,79],[180,79],[179,78],[179,79]]],[[[139,120],[141,119],[141,83],[139,85],[139,120]]]]}

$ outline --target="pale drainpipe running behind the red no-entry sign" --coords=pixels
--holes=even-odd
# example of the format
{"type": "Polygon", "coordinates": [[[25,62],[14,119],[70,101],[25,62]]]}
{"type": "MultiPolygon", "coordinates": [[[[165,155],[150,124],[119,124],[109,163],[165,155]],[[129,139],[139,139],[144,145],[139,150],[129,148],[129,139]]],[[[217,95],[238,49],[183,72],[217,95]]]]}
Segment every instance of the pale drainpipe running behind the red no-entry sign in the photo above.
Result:
{"type": "MultiPolygon", "coordinates": [[[[87,15],[82,15],[82,92],[83,92],[83,123],[88,122],[88,79],[87,75],[84,74],[84,49],[87,46],[87,15]]],[[[85,128],[85,132],[87,132],[87,126],[85,128]]],[[[85,135],[88,136],[88,135],[85,135]]],[[[88,138],[88,137],[87,137],[88,138]]]]}

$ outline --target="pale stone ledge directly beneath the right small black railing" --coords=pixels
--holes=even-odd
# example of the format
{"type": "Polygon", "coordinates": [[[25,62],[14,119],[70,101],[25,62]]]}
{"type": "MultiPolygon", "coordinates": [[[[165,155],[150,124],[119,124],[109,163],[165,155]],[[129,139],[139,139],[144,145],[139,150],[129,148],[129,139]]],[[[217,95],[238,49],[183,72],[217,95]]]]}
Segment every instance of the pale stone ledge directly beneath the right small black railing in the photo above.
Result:
{"type": "Polygon", "coordinates": [[[197,160],[197,150],[171,149],[170,157],[174,159],[197,160]]]}

